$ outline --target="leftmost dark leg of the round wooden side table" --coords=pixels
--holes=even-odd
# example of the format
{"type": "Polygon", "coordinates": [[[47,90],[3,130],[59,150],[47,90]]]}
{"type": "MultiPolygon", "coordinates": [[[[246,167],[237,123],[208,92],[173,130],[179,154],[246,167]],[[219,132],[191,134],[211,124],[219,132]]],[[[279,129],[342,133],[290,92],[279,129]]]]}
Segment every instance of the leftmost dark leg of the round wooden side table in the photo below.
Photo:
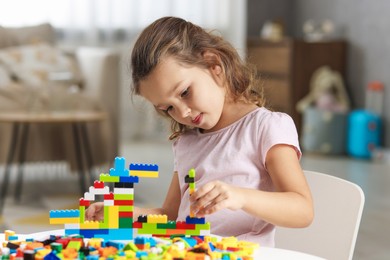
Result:
{"type": "Polygon", "coordinates": [[[4,169],[3,184],[1,187],[0,215],[3,214],[5,197],[7,195],[7,189],[8,189],[8,185],[9,185],[9,174],[10,174],[10,170],[11,170],[10,167],[11,167],[11,163],[14,159],[16,145],[18,143],[18,132],[19,132],[19,123],[14,123],[14,125],[12,127],[11,143],[9,146],[8,157],[7,157],[7,161],[6,161],[5,169],[4,169]]]}

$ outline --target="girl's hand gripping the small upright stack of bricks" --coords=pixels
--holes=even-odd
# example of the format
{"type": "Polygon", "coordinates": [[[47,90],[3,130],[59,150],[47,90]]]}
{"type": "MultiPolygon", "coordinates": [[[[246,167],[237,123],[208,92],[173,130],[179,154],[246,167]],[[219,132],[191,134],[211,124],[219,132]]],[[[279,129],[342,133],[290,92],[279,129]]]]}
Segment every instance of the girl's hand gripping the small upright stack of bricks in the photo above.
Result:
{"type": "Polygon", "coordinates": [[[243,207],[238,187],[221,181],[212,181],[190,196],[191,211],[196,217],[204,217],[221,209],[237,210],[243,207]]]}

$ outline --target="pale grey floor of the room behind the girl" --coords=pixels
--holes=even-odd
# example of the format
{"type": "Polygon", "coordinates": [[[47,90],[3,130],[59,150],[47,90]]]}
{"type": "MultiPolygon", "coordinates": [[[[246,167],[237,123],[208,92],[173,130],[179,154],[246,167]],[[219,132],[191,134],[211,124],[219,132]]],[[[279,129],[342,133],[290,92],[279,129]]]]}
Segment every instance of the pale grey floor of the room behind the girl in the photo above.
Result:
{"type": "MultiPolygon", "coordinates": [[[[173,169],[170,144],[168,142],[128,143],[122,146],[119,156],[125,157],[128,163],[159,165],[160,177],[158,179],[142,179],[135,187],[135,203],[143,206],[160,205],[168,189],[173,169]]],[[[302,167],[306,170],[332,174],[362,187],[366,196],[366,204],[354,259],[389,259],[390,162],[370,162],[347,157],[306,154],[302,159],[302,167]]],[[[33,179],[26,174],[21,203],[14,203],[12,187],[10,187],[0,228],[21,228],[27,230],[28,233],[42,231],[47,228],[48,210],[77,208],[79,194],[76,176],[61,173],[61,169],[60,173],[53,176],[49,173],[50,171],[49,169],[46,173],[40,172],[41,177],[33,179]],[[63,196],[58,196],[59,193],[63,196]],[[12,226],[12,220],[14,220],[14,226],[12,226]]],[[[0,166],[0,178],[2,173],[0,166]]]]}

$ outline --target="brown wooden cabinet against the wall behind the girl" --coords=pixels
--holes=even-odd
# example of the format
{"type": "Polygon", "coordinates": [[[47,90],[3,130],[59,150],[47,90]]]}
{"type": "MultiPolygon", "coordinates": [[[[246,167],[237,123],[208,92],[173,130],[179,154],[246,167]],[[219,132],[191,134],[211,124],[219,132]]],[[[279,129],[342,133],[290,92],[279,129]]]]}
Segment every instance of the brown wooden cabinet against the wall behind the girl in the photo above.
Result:
{"type": "Polygon", "coordinates": [[[313,72],[328,65],[345,78],[346,42],[306,42],[286,38],[272,42],[259,38],[247,41],[247,60],[257,67],[264,86],[266,106],[289,114],[300,131],[301,115],[296,103],[309,93],[313,72]]]}

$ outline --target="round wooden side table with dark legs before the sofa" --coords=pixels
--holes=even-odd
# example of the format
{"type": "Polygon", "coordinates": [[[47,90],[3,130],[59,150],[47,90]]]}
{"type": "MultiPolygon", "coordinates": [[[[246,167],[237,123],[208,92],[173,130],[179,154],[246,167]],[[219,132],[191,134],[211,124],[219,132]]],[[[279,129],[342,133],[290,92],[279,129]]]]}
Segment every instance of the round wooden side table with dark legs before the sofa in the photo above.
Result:
{"type": "Polygon", "coordinates": [[[20,200],[23,178],[23,166],[28,144],[28,132],[31,124],[70,124],[72,125],[74,148],[76,155],[76,167],[80,181],[81,195],[86,190],[85,172],[89,173],[92,182],[93,158],[88,140],[87,123],[101,122],[107,118],[105,112],[100,111],[61,111],[61,112],[2,112],[0,122],[12,125],[11,143],[8,149],[5,164],[3,182],[0,194],[0,215],[5,203],[7,188],[9,185],[10,166],[13,161],[18,167],[18,175],[15,188],[15,199],[20,200]],[[19,149],[17,149],[19,146],[19,149]],[[19,155],[15,152],[19,150],[19,155]],[[86,159],[84,167],[83,156],[86,159]]]}

